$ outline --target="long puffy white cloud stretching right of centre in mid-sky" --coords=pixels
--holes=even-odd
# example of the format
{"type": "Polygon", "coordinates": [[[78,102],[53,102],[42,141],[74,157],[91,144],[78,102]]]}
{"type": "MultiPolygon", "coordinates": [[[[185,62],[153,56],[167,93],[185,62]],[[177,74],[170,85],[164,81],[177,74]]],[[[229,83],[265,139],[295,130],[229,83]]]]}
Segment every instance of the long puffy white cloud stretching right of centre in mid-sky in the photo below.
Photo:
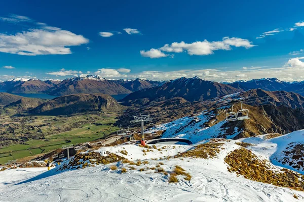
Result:
{"type": "Polygon", "coordinates": [[[196,41],[193,43],[173,42],[171,44],[165,44],[163,47],[158,49],[151,48],[149,51],[140,51],[141,56],[149,58],[162,58],[168,55],[163,52],[168,53],[181,53],[187,52],[188,55],[211,55],[214,51],[224,50],[230,51],[232,46],[235,47],[245,47],[246,49],[251,48],[255,45],[252,44],[248,39],[236,38],[236,37],[223,37],[221,41],[196,41]],[[163,52],[162,52],[163,51],[163,52]]]}

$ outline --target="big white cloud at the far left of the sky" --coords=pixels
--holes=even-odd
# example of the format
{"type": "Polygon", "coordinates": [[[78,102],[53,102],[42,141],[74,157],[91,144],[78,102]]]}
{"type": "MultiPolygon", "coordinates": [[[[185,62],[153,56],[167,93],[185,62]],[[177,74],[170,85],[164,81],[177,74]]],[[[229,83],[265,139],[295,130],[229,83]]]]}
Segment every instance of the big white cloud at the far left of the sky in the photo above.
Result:
{"type": "MultiPolygon", "coordinates": [[[[25,16],[16,16],[13,19],[19,20],[18,22],[33,22],[25,16]]],[[[69,46],[88,42],[89,39],[83,35],[40,23],[37,28],[27,31],[15,34],[0,34],[0,52],[26,56],[65,55],[71,54],[69,46]]]]}

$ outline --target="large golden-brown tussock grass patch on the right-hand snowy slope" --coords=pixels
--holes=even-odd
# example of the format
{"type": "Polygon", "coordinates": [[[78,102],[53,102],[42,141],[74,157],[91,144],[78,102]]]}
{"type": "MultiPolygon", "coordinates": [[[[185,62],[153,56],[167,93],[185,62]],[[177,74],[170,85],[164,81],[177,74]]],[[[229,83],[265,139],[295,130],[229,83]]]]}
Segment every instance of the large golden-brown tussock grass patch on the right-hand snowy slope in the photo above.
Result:
{"type": "Polygon", "coordinates": [[[247,179],[273,184],[281,187],[304,190],[304,175],[288,169],[275,172],[268,166],[268,161],[259,160],[250,150],[240,148],[227,155],[224,161],[229,165],[229,172],[235,172],[247,179]]]}

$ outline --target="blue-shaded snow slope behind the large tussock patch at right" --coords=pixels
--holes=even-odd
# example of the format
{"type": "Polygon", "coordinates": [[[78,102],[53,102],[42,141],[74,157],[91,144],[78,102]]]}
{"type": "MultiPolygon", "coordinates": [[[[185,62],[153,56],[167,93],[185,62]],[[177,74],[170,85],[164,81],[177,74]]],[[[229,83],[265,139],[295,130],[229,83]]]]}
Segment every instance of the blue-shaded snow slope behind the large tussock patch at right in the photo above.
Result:
{"type": "Polygon", "coordinates": [[[304,130],[294,131],[272,139],[265,139],[264,137],[265,135],[259,135],[256,137],[244,138],[242,141],[256,144],[250,146],[249,149],[252,150],[253,153],[270,160],[274,165],[304,174],[304,168],[295,169],[290,166],[289,163],[282,164],[282,162],[286,161],[292,162],[292,165],[296,164],[297,161],[289,159],[283,151],[286,151],[287,147],[290,149],[295,144],[304,144],[304,130]],[[284,160],[284,158],[286,159],[284,160]]]}

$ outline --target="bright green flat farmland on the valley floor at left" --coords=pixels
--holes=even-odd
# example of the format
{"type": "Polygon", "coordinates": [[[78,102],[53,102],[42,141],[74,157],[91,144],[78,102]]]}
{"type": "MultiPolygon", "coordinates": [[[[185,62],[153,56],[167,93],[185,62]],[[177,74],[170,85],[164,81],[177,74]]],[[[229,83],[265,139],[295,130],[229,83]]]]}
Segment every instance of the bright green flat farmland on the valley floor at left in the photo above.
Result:
{"type": "MultiPolygon", "coordinates": [[[[43,117],[43,119],[45,118],[46,116],[43,117]]],[[[115,116],[103,117],[103,119],[99,120],[97,123],[115,123],[115,118],[115,116]]],[[[60,121],[56,124],[60,125],[60,121]]],[[[33,139],[26,141],[26,144],[6,146],[0,148],[0,164],[5,164],[9,160],[48,153],[51,150],[61,148],[62,145],[65,144],[76,145],[81,142],[94,141],[103,138],[116,130],[118,130],[118,128],[115,126],[83,124],[81,128],[47,135],[45,136],[45,139],[33,139]]]]}

